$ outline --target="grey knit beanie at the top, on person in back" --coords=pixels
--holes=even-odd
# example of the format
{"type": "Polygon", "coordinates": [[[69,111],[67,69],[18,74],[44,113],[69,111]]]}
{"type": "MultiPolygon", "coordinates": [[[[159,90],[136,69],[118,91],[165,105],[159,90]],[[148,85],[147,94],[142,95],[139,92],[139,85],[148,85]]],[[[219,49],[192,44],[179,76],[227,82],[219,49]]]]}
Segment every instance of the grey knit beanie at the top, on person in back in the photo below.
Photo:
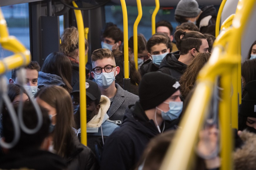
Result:
{"type": "Polygon", "coordinates": [[[193,18],[199,15],[200,12],[201,9],[195,0],[180,0],[174,14],[193,18]]]}

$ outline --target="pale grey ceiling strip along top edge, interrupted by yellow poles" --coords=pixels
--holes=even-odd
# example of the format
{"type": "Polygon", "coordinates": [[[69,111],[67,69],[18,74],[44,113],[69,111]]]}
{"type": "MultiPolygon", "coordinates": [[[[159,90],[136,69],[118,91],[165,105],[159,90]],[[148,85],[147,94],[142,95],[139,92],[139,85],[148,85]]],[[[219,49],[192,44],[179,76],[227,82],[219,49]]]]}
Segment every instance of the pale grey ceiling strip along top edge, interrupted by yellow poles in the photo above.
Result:
{"type": "MultiPolygon", "coordinates": [[[[176,6],[180,0],[159,0],[160,6],[176,6]]],[[[199,5],[221,5],[222,0],[196,0],[199,5]]],[[[111,0],[116,4],[121,4],[120,0],[111,0]]],[[[127,0],[126,5],[137,6],[135,0],[127,0]]],[[[155,6],[155,0],[141,0],[142,6],[155,6]]]]}

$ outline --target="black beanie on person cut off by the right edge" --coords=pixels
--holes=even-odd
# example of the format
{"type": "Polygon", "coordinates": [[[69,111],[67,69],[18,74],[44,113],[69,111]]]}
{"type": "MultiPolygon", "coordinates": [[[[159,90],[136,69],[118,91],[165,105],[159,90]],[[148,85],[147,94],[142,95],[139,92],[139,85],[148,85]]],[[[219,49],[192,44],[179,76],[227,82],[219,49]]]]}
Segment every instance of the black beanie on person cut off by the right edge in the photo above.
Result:
{"type": "Polygon", "coordinates": [[[242,99],[239,114],[245,117],[256,117],[256,80],[245,85],[245,94],[242,99]]]}

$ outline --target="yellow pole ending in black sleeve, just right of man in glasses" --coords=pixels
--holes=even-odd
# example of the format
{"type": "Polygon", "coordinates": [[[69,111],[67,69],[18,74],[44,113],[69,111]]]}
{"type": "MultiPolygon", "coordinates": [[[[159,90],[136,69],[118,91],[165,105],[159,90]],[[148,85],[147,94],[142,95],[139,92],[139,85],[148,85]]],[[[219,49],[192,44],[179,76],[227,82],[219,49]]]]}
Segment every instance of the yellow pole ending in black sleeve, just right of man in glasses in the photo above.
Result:
{"type": "Polygon", "coordinates": [[[129,79],[128,17],[125,0],[120,0],[123,11],[124,78],[129,79]]]}

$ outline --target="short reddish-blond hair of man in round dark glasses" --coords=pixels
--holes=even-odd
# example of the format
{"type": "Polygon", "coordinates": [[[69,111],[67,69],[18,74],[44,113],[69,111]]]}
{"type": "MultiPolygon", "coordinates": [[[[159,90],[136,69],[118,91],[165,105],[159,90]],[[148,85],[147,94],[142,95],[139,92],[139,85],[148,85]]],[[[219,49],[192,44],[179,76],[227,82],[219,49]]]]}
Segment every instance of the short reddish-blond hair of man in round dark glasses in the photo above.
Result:
{"type": "Polygon", "coordinates": [[[97,50],[94,50],[91,54],[91,63],[94,63],[94,61],[102,60],[103,58],[111,58],[115,61],[114,55],[111,50],[107,48],[100,48],[97,50]]]}

